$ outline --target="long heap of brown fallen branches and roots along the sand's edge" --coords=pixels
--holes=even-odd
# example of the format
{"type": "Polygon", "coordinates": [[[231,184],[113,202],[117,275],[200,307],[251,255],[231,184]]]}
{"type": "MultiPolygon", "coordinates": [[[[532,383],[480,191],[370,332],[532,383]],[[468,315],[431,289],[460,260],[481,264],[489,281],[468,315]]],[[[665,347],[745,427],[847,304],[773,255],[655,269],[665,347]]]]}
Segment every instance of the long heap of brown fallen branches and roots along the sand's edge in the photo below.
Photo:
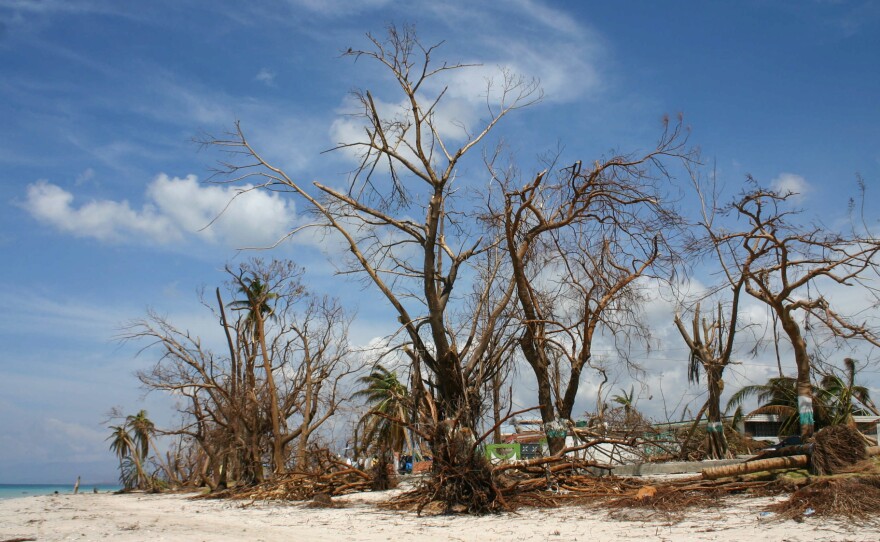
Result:
{"type": "MultiPolygon", "coordinates": [[[[689,477],[659,483],[639,478],[610,475],[608,466],[577,457],[576,452],[601,443],[634,446],[635,441],[595,438],[566,448],[550,457],[511,461],[491,465],[479,452],[478,442],[467,429],[454,423],[438,424],[432,475],[418,487],[384,503],[384,508],[414,510],[418,513],[467,513],[511,511],[522,506],[558,507],[584,505],[611,510],[619,519],[649,519],[662,514],[666,519],[682,517],[688,509],[716,506],[719,497],[729,494],[778,495],[791,498],[773,505],[770,511],[781,519],[804,515],[864,519],[880,509],[880,467],[867,455],[864,439],[852,428],[826,428],[814,441],[799,449],[810,450],[810,461],[798,467],[811,467],[813,474],[833,473],[833,477],[805,477],[797,484],[785,472],[765,472],[723,479],[689,477]],[[442,443],[442,444],[436,444],[442,443]],[[842,474],[844,473],[844,474],[842,474]],[[793,492],[793,493],[792,493],[793,492]],[[637,510],[637,512],[633,512],[637,510]],[[629,512],[627,512],[629,511],[629,512]]],[[[784,455],[785,449],[773,454],[784,455]]],[[[804,453],[804,452],[800,452],[804,453]]],[[[776,460],[792,460],[796,456],[776,460]]],[[[748,465],[748,464],[745,464],[748,465]]],[[[757,465],[756,465],[757,466],[757,465]]],[[[256,486],[232,489],[212,496],[251,500],[312,500],[320,506],[334,506],[332,496],[382,490],[396,485],[389,469],[390,457],[381,454],[370,472],[348,465],[327,450],[313,450],[308,471],[290,472],[256,486]]],[[[737,469],[740,466],[719,467],[737,469]]]]}

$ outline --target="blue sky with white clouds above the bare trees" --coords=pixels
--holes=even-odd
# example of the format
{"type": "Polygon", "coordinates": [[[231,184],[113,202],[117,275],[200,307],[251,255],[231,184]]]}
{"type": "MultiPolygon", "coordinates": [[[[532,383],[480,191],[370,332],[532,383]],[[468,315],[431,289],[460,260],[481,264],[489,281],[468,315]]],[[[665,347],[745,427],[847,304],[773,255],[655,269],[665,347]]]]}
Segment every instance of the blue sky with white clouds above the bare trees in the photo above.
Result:
{"type": "MultiPolygon", "coordinates": [[[[346,133],[348,92],[386,81],[340,53],[390,22],[446,40],[447,60],[483,65],[452,89],[462,118],[478,114],[482,77],[498,66],[540,78],[544,101],[502,132],[524,171],[559,147],[587,160],[645,149],[662,116],[682,112],[730,193],[751,173],[833,220],[860,173],[876,221],[876,2],[236,4],[0,0],[0,482],[112,481],[109,409],[170,419],[133,375],[149,357],[114,336],[147,307],[213,333],[196,290],[301,212],[254,194],[203,229],[230,192],[203,182],[218,156],[193,138],[240,120],[291,175],[343,182],[352,164],[321,151],[346,133]]],[[[388,314],[330,276],[333,251],[306,239],[271,255],[306,265],[316,290],[357,309],[353,338],[365,344],[388,332],[388,314]]],[[[687,397],[668,307],[652,311],[669,341],[646,366],[665,375],[664,395],[687,397]]],[[[749,363],[741,378],[768,374],[749,363]]],[[[640,406],[659,415],[655,389],[640,406]]]]}

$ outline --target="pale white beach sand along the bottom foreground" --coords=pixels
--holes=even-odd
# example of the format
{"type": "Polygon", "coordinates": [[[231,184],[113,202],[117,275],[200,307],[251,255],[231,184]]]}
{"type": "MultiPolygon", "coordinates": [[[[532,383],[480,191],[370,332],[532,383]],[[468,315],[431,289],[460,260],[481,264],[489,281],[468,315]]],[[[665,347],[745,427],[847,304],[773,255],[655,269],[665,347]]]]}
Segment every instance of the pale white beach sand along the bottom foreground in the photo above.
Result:
{"type": "Polygon", "coordinates": [[[880,529],[808,517],[774,521],[773,498],[735,497],[681,521],[648,512],[585,508],[526,509],[486,517],[418,517],[380,510],[386,494],[338,499],[342,508],[193,500],[186,495],[80,494],[0,501],[0,542],[35,540],[880,540],[880,529]]]}

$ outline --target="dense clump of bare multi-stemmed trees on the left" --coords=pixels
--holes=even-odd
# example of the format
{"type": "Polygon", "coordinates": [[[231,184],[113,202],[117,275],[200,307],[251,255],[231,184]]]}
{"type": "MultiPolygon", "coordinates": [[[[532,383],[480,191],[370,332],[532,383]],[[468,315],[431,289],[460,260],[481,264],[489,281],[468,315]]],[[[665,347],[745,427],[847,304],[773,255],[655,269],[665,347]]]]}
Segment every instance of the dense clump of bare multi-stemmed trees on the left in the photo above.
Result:
{"type": "Polygon", "coordinates": [[[335,301],[307,294],[299,268],[256,260],[229,272],[234,292],[242,294],[242,285],[252,291],[227,305],[217,290],[215,314],[226,355],[213,353],[201,338],[153,312],[123,335],[149,341],[145,350],[161,352],[156,365],[138,377],[150,390],[183,399],[183,425],[164,433],[197,443],[204,454],[200,476],[211,487],[262,480],[264,457],[272,457],[273,472],[283,472],[294,443],[294,464],[303,464],[309,439],[344,401],[340,386],[356,369],[348,347],[349,318],[335,301]],[[255,304],[258,297],[271,299],[271,307],[255,304]],[[230,306],[242,309],[234,321],[228,319],[230,306]],[[262,313],[262,328],[256,325],[255,307],[262,313]]]}

